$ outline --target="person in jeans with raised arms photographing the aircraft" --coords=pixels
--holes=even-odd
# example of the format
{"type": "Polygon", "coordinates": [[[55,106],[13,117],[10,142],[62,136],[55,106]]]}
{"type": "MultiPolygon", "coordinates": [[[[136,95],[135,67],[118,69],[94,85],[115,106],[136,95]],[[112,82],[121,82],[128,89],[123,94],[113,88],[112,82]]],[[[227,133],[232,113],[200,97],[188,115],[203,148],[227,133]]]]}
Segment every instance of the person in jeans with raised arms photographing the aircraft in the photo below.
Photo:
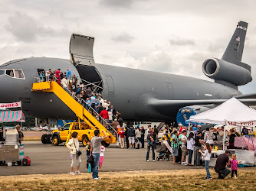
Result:
{"type": "Polygon", "coordinates": [[[100,152],[101,152],[101,141],[104,138],[107,138],[107,134],[105,131],[102,131],[104,136],[100,138],[100,130],[94,131],[94,138],[90,140],[90,155],[94,157],[94,167],[93,167],[93,180],[100,180],[101,178],[98,176],[98,167],[100,162],[100,152]]]}

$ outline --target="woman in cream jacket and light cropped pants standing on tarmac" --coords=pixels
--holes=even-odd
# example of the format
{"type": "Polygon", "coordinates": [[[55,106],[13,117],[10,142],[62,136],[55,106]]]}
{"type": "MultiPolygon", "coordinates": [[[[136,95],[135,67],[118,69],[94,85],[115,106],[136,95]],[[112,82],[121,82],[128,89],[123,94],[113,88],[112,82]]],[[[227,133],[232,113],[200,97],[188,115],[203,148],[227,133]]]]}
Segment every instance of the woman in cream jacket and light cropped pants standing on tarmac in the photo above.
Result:
{"type": "Polygon", "coordinates": [[[74,131],[71,134],[71,139],[68,141],[68,143],[66,145],[67,148],[71,151],[72,162],[71,162],[71,172],[69,173],[70,175],[75,175],[75,174],[81,175],[79,168],[80,168],[80,163],[82,161],[81,161],[81,156],[77,156],[77,151],[79,151],[79,142],[77,140],[77,135],[78,135],[78,133],[76,131],[74,131]],[[77,160],[77,170],[74,173],[73,170],[74,170],[75,160],[77,160]]]}

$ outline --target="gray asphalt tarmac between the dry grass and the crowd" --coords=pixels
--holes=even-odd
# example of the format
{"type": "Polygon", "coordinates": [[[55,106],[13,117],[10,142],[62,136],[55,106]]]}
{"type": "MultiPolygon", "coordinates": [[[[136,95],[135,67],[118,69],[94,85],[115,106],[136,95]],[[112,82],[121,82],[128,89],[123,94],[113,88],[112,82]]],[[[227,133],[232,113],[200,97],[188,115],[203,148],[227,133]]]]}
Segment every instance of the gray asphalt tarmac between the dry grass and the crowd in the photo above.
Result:
{"type": "MultiPolygon", "coordinates": [[[[71,160],[69,150],[64,144],[52,146],[41,142],[24,142],[25,157],[31,158],[31,166],[0,166],[0,176],[21,174],[52,174],[69,173],[71,160]]],[[[82,163],[80,172],[87,173],[85,148],[80,145],[82,163]]],[[[158,153],[156,153],[158,156],[158,153]]],[[[152,152],[149,162],[146,162],[146,148],[120,149],[116,144],[106,148],[103,160],[103,171],[131,171],[131,170],[174,170],[174,169],[202,169],[203,167],[182,166],[172,164],[172,161],[152,161],[152,152]]]]}

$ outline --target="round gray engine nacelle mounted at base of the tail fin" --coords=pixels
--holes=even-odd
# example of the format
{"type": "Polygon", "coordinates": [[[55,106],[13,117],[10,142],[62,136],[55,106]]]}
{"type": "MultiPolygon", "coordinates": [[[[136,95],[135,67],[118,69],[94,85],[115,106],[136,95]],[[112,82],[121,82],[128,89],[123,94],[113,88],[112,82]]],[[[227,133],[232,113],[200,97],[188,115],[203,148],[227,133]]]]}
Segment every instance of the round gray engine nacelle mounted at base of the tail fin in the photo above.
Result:
{"type": "Polygon", "coordinates": [[[251,67],[246,63],[229,63],[225,60],[211,58],[202,64],[205,76],[219,81],[225,81],[235,86],[245,85],[251,82],[251,67]]]}

